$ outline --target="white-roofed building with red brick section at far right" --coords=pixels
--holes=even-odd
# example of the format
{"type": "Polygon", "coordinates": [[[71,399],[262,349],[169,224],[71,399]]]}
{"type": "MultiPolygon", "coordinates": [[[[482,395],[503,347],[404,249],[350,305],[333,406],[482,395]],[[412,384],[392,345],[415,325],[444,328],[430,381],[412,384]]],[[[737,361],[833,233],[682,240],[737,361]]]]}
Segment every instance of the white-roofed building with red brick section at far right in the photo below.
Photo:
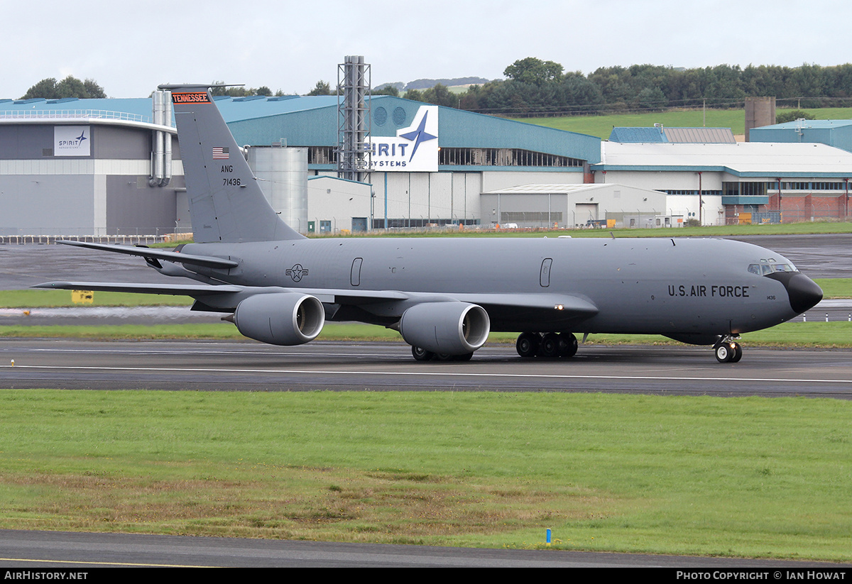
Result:
{"type": "Polygon", "coordinates": [[[706,141],[676,141],[656,128],[619,130],[602,143],[595,181],[665,192],[672,215],[705,225],[849,215],[852,152],[822,143],[714,140],[709,132],[699,139],[706,141]]]}

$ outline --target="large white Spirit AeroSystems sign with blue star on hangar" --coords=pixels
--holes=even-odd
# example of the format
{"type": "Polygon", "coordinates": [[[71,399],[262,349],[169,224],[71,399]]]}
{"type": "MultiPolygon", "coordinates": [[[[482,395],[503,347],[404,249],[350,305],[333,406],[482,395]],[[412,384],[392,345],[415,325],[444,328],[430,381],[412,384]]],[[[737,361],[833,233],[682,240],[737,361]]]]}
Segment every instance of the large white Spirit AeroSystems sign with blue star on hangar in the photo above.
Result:
{"type": "Polygon", "coordinates": [[[438,172],[438,106],[420,106],[412,125],[396,136],[372,136],[372,169],[380,172],[438,172]]]}

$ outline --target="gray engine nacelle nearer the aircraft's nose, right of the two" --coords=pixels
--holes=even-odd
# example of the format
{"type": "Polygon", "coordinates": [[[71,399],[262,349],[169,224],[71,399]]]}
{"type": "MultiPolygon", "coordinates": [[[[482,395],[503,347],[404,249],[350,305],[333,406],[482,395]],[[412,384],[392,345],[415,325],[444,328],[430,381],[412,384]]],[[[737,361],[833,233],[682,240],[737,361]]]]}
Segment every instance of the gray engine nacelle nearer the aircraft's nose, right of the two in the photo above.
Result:
{"type": "Polygon", "coordinates": [[[485,344],[491,320],[482,306],[466,302],[427,302],[402,313],[406,343],[427,351],[462,355],[485,344]]]}

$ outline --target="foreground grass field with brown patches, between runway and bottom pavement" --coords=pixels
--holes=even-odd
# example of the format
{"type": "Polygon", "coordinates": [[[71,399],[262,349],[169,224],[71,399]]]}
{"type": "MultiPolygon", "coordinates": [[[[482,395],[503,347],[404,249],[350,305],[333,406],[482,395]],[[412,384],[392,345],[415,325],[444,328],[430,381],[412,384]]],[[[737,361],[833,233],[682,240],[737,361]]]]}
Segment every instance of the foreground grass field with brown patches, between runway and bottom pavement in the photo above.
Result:
{"type": "Polygon", "coordinates": [[[0,391],[0,527],[852,561],[852,403],[0,391]]]}

